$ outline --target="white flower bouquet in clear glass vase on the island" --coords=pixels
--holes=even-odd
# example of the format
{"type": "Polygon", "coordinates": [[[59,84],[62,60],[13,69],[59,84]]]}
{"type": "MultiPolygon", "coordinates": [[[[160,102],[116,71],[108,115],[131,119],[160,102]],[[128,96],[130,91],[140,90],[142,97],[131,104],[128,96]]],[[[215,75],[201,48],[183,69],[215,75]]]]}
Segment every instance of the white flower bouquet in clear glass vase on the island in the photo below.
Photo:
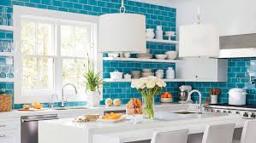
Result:
{"type": "Polygon", "coordinates": [[[144,116],[153,119],[154,96],[159,94],[162,89],[166,87],[166,83],[158,77],[142,77],[138,80],[134,80],[131,87],[136,88],[142,95],[144,116]]]}

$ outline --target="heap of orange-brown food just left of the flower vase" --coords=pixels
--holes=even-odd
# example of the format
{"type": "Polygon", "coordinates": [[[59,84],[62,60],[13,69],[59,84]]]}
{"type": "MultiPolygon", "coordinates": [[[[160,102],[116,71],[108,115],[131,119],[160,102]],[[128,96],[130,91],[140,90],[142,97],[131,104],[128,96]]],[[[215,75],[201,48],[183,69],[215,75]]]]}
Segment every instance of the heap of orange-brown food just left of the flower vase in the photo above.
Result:
{"type": "Polygon", "coordinates": [[[142,114],[142,101],[140,99],[131,99],[126,105],[126,113],[128,115],[142,114]]]}

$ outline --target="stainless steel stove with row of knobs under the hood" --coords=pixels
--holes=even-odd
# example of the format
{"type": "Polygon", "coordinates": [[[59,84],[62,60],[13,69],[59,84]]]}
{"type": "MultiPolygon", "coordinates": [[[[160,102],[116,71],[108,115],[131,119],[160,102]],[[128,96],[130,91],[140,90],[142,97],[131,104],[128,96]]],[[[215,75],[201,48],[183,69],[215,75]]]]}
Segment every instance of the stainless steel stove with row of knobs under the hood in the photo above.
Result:
{"type": "Polygon", "coordinates": [[[256,105],[233,106],[227,103],[205,105],[205,112],[223,112],[241,115],[245,118],[256,118],[256,105]]]}

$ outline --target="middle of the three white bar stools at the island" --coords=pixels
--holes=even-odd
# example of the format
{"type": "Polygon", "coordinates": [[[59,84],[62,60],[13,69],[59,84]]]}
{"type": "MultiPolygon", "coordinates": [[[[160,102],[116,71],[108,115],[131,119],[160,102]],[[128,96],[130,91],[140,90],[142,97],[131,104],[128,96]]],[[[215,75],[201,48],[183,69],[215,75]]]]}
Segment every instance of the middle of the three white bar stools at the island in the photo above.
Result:
{"type": "Polygon", "coordinates": [[[231,143],[235,123],[207,125],[202,143],[231,143]]]}

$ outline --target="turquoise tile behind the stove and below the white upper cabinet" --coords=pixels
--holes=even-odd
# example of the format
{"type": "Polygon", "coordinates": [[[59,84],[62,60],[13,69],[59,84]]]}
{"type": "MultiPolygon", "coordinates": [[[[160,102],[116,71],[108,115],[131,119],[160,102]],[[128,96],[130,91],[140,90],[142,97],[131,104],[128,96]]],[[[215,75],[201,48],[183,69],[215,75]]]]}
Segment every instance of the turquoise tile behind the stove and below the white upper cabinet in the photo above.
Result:
{"type": "MultiPolygon", "coordinates": [[[[232,88],[246,88],[247,89],[247,104],[256,105],[256,87],[255,84],[249,83],[248,72],[250,72],[251,62],[256,58],[237,58],[228,60],[228,81],[223,83],[190,83],[185,84],[192,85],[193,89],[199,89],[203,94],[203,98],[209,98],[208,93],[211,88],[221,89],[221,94],[218,97],[218,102],[229,102],[229,89],[232,88]],[[237,78],[238,76],[245,78],[237,78]]],[[[254,71],[253,73],[255,73],[254,71]]],[[[198,94],[193,95],[193,100],[199,100],[198,94]]]]}

